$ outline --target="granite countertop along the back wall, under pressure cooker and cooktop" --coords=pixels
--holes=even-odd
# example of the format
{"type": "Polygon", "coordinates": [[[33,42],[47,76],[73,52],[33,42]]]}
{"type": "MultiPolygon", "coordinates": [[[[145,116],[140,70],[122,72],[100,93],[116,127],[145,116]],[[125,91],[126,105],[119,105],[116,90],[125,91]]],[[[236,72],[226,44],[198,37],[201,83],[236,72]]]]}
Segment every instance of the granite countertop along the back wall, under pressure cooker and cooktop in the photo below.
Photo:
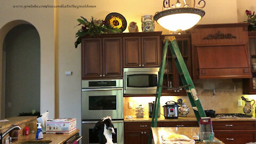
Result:
{"type": "MultiPolygon", "coordinates": [[[[256,121],[255,117],[252,118],[211,118],[213,122],[222,121],[256,121]]],[[[132,116],[132,119],[126,119],[124,117],[124,122],[151,122],[152,118],[144,116],[143,118],[137,118],[132,116]]],[[[165,119],[164,116],[157,118],[157,122],[196,122],[196,116],[179,117],[178,119],[165,119]]]]}

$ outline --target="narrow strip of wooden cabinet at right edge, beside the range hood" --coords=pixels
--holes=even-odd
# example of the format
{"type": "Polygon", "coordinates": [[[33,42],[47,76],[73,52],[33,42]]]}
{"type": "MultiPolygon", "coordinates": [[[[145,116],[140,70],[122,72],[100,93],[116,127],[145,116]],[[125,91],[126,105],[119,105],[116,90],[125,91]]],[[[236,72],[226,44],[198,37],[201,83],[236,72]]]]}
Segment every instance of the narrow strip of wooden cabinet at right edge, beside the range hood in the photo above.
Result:
{"type": "MultiPolygon", "coordinates": [[[[249,31],[250,62],[256,63],[256,31],[249,31]]],[[[243,79],[243,94],[256,94],[256,69],[252,69],[252,78],[243,79]]]]}

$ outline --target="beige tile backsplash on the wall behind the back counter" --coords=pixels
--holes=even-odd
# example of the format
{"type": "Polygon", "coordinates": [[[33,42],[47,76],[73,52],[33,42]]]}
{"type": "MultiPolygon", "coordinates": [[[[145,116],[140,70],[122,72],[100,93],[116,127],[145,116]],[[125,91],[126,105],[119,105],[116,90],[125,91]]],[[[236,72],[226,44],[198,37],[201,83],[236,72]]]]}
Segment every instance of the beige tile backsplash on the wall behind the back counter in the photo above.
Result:
{"type": "MultiPolygon", "coordinates": [[[[237,106],[237,100],[241,100],[242,96],[248,98],[249,100],[256,100],[256,95],[243,95],[242,79],[197,79],[193,82],[204,110],[213,109],[216,111],[216,113],[244,114],[244,101],[243,106],[237,106]],[[213,89],[215,89],[214,94],[213,89]]],[[[178,99],[186,99],[186,103],[190,108],[190,112],[188,115],[194,115],[194,111],[191,109],[191,104],[187,95],[161,97],[161,114],[164,114],[162,106],[165,105],[166,101],[177,102],[178,99]]],[[[135,116],[135,107],[142,105],[143,107],[145,107],[145,116],[148,116],[148,103],[152,101],[155,101],[155,97],[125,97],[124,115],[135,116]],[[130,101],[133,102],[132,109],[129,109],[130,101]]]]}

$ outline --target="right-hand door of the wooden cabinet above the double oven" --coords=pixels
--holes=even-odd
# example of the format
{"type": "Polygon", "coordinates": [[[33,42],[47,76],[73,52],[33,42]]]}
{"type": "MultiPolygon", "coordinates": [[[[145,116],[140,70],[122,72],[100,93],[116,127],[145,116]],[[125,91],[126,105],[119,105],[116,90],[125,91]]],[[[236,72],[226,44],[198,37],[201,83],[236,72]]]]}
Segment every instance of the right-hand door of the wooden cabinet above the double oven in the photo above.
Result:
{"type": "Polygon", "coordinates": [[[103,77],[123,77],[122,38],[103,38],[103,77]]]}

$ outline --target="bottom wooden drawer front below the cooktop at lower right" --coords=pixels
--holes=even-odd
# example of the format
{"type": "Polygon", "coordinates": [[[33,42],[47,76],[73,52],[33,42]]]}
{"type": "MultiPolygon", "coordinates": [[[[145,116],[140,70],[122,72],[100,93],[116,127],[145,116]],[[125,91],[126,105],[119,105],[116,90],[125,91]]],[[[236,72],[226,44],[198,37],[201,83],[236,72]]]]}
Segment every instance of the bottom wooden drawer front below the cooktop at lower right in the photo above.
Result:
{"type": "Polygon", "coordinates": [[[216,138],[226,144],[245,144],[248,142],[255,142],[256,130],[248,131],[214,131],[216,138]]]}

